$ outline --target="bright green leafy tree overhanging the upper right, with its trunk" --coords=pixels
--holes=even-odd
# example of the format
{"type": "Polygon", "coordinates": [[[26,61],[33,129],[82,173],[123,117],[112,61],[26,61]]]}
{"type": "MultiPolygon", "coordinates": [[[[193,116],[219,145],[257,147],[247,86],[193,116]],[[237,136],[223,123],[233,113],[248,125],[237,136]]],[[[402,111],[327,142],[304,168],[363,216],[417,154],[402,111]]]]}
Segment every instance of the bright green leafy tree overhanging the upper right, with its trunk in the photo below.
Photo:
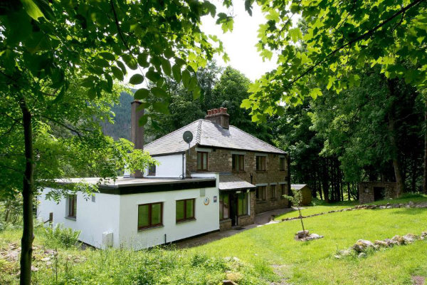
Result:
{"type": "MultiPolygon", "coordinates": [[[[306,97],[317,98],[324,83],[327,90],[337,93],[357,86],[357,73],[367,66],[378,66],[384,73],[390,98],[395,97],[396,78],[404,78],[418,90],[426,85],[426,1],[257,3],[268,19],[260,27],[258,49],[265,58],[278,53],[278,68],[255,81],[252,94],[242,103],[243,108],[251,109],[255,121],[283,114],[280,102],[299,105],[306,97]],[[292,25],[295,14],[301,15],[305,25],[292,25]]],[[[389,110],[393,113],[394,106],[389,110]]],[[[396,149],[393,134],[398,118],[391,113],[389,144],[396,149]]],[[[402,192],[401,165],[398,157],[393,160],[402,192]]]]}

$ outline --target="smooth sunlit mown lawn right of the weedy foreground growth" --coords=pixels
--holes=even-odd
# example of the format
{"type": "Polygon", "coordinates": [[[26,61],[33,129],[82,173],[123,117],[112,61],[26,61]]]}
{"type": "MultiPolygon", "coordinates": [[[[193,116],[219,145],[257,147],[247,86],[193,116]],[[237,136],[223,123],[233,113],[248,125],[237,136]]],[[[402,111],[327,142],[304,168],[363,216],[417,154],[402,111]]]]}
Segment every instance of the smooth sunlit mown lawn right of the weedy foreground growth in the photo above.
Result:
{"type": "MultiPolygon", "coordinates": [[[[405,199],[396,199],[396,202],[405,199]]],[[[412,200],[421,202],[427,197],[412,200]]],[[[325,212],[334,207],[348,205],[315,206],[307,208],[306,212],[325,212]]],[[[362,209],[325,214],[305,219],[305,227],[325,238],[295,241],[294,234],[301,229],[297,219],[251,229],[191,251],[234,256],[260,264],[258,267],[264,270],[265,276],[268,276],[265,263],[275,264],[285,281],[291,284],[412,284],[411,275],[427,276],[426,240],[374,252],[364,259],[334,258],[337,250],[351,247],[357,239],[374,242],[396,234],[419,235],[427,231],[425,208],[362,209]]]]}

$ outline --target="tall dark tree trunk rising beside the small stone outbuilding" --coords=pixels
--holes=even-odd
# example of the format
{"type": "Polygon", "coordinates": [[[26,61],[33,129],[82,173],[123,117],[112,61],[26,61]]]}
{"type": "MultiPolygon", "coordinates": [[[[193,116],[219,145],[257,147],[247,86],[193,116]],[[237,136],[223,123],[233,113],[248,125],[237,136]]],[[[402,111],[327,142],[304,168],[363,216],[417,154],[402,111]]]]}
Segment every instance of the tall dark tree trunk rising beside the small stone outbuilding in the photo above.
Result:
{"type": "MultiPolygon", "coordinates": [[[[394,97],[394,88],[395,88],[395,80],[388,80],[389,85],[389,95],[394,97]]],[[[394,98],[392,98],[394,100],[394,98]]],[[[405,182],[402,175],[401,162],[399,160],[399,148],[396,142],[396,130],[394,128],[394,103],[389,110],[388,118],[389,118],[389,136],[390,136],[390,145],[391,149],[394,152],[393,155],[393,167],[394,167],[394,177],[396,179],[396,188],[397,188],[397,197],[400,197],[405,189],[405,182]]]]}

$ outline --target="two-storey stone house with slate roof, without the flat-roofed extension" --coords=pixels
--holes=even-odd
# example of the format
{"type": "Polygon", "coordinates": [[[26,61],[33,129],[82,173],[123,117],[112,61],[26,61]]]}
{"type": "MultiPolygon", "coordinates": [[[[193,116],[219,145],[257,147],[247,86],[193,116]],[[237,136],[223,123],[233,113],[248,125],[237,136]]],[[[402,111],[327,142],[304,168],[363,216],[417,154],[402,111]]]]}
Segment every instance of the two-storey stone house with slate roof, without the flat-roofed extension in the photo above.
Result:
{"type": "Polygon", "coordinates": [[[144,145],[160,162],[144,177],[191,177],[219,173],[220,228],[253,224],[255,214],[288,207],[288,153],[229,125],[226,108],[144,145]],[[184,141],[189,131],[193,140],[184,141]],[[179,173],[181,172],[181,173],[179,173]]]}

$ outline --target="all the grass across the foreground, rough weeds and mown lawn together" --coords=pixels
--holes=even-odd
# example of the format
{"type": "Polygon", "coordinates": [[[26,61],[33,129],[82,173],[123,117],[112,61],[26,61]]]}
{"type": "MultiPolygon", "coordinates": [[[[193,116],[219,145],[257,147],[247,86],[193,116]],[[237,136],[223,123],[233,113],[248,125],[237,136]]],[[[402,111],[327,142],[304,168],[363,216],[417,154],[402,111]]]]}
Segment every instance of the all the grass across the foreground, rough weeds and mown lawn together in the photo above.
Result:
{"type": "MultiPolygon", "coordinates": [[[[394,202],[427,201],[426,196],[404,197],[394,202]],[[407,199],[407,200],[406,200],[407,199]]],[[[382,203],[386,203],[384,201],[382,203]]],[[[380,203],[376,203],[380,204],[380,203]]],[[[305,214],[327,212],[349,204],[320,204],[305,214]]],[[[291,213],[292,214],[292,213],[291,213]]],[[[305,219],[310,232],[325,238],[297,242],[294,234],[300,220],[248,229],[192,249],[152,249],[131,252],[63,248],[47,265],[44,249],[55,249],[36,229],[33,264],[34,284],[220,284],[227,272],[238,276],[238,284],[412,284],[411,276],[427,276],[427,240],[371,252],[366,258],[336,259],[339,249],[357,239],[391,238],[396,234],[427,231],[426,208],[361,209],[305,219]],[[238,257],[240,261],[225,259],[238,257]],[[76,261],[77,260],[77,261],[76,261]],[[231,261],[229,261],[231,260],[231,261]],[[57,266],[58,264],[58,266],[57,266]],[[58,273],[58,281],[57,281],[58,273]],[[283,282],[283,283],[280,283],[283,282]]],[[[20,242],[19,229],[0,232],[0,249],[20,242]]],[[[19,261],[0,257],[0,284],[18,284],[19,261]]]]}

